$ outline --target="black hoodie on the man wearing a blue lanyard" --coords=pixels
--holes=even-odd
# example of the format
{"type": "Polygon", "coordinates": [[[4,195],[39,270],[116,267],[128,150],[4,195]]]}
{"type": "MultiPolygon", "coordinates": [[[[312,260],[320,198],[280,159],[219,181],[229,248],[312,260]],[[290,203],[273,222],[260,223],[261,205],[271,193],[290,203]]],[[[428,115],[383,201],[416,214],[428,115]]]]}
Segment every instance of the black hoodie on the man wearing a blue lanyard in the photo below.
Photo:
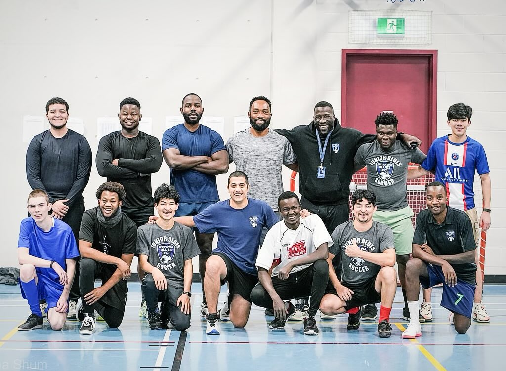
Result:
{"type": "MultiPolygon", "coordinates": [[[[299,191],[315,204],[342,204],[348,202],[350,182],[354,172],[357,149],[364,143],[376,139],[373,134],[362,134],[358,130],[342,128],[334,119],[334,129],[325,150],[323,166],[325,178],[316,176],[320,166],[320,153],[314,122],[291,130],[275,130],[290,142],[299,161],[299,191]]],[[[326,136],[320,140],[325,142],[326,136]]]]}

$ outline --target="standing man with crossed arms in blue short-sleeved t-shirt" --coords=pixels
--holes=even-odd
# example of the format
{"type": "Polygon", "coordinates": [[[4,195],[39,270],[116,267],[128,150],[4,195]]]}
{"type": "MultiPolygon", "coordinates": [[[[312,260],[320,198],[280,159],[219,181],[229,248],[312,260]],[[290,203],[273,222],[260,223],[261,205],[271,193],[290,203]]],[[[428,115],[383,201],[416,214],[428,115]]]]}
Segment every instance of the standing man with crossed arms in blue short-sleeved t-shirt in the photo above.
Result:
{"type": "MultiPolygon", "coordinates": [[[[171,184],[181,199],[176,216],[194,216],[220,200],[216,175],[228,172],[229,160],[220,134],[201,125],[204,112],[202,100],[194,93],[187,94],[181,104],[184,122],[163,133],[163,158],[171,168],[171,184]]],[[[214,232],[195,231],[200,249],[198,270],[202,283],[205,262],[213,252],[214,232]]],[[[202,285],[200,315],[207,315],[207,302],[202,285]]]]}

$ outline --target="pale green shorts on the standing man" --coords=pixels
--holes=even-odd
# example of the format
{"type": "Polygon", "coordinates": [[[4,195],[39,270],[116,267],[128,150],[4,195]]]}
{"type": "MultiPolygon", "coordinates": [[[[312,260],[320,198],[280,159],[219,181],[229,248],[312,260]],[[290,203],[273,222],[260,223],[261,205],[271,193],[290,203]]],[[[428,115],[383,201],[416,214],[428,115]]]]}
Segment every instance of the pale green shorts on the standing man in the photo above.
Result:
{"type": "Polygon", "coordinates": [[[413,245],[413,223],[411,217],[414,215],[409,206],[397,211],[375,211],[372,219],[392,228],[394,232],[394,244],[396,255],[411,254],[413,245]]]}

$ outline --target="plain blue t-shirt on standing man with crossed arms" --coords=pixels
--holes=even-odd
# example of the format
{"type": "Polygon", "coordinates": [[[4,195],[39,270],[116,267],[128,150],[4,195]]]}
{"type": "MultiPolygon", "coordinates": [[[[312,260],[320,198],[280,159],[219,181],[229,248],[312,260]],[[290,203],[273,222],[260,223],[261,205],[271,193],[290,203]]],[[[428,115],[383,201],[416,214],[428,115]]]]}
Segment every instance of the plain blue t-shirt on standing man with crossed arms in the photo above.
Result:
{"type": "MultiPolygon", "coordinates": [[[[203,125],[190,132],[183,123],[163,133],[161,150],[177,148],[184,156],[211,156],[225,150],[220,134],[203,125]]],[[[193,169],[171,169],[171,184],[181,195],[181,202],[218,201],[216,176],[200,173],[193,169]]]]}

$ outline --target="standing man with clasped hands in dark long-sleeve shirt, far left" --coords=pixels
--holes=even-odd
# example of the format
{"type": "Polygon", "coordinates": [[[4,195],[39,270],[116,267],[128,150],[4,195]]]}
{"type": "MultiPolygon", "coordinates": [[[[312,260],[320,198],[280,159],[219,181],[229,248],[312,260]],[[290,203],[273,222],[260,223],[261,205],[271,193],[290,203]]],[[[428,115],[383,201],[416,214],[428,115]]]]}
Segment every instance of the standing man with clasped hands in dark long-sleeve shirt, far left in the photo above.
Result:
{"type": "MultiPolygon", "coordinates": [[[[51,216],[72,228],[77,243],[85,212],[82,191],[90,180],[92,150],[85,137],[67,128],[68,108],[68,103],[58,97],[46,104],[51,128],[30,142],[26,152],[26,177],[32,189],[48,192],[51,216]]],[[[68,318],[75,318],[79,296],[79,282],[75,279],[69,294],[68,318]]]]}

